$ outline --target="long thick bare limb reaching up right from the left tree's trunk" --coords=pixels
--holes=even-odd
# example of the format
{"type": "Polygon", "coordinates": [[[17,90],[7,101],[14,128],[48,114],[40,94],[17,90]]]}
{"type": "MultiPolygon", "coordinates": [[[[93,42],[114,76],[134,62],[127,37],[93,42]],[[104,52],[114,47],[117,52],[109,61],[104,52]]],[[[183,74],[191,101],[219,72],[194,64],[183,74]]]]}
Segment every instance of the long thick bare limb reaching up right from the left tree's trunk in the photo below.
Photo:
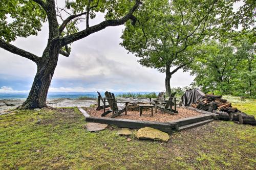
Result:
{"type": "Polygon", "coordinates": [[[140,0],[136,0],[136,4],[133,6],[130,12],[126,14],[124,17],[122,17],[121,19],[105,20],[100,22],[98,25],[86,28],[85,30],[79,31],[77,33],[67,35],[65,37],[59,37],[61,41],[61,45],[64,46],[64,45],[70,44],[74,41],[87,37],[90,34],[103,30],[106,27],[123,25],[129,19],[133,20],[133,23],[134,23],[135,16],[133,16],[133,12],[138,8],[139,4],[140,4],[140,0]]]}

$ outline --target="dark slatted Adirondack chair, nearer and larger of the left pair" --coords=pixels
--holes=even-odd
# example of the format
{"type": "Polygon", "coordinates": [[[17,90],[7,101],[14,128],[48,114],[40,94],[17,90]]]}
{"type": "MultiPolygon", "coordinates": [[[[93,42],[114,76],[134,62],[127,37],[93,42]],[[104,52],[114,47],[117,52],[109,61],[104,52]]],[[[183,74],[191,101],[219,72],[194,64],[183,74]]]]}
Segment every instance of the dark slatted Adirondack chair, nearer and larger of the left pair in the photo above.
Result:
{"type": "Polygon", "coordinates": [[[127,115],[127,104],[129,102],[117,102],[116,99],[115,99],[115,94],[114,93],[111,93],[111,92],[108,92],[106,91],[105,92],[105,99],[108,100],[108,103],[110,104],[110,109],[111,110],[108,110],[106,112],[104,112],[103,114],[101,114],[101,116],[105,116],[111,112],[113,112],[113,115],[111,116],[111,118],[114,118],[118,115],[120,115],[121,113],[125,112],[125,115],[127,115]],[[118,107],[117,107],[117,103],[125,103],[125,108],[119,110],[118,107]]]}

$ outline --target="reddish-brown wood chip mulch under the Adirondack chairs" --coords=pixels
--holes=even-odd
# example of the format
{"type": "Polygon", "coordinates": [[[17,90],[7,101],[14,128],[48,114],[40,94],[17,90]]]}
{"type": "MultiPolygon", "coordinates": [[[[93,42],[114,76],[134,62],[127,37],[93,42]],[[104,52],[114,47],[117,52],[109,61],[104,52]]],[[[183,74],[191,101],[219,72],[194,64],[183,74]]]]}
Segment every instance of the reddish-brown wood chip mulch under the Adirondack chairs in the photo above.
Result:
{"type": "MultiPolygon", "coordinates": [[[[103,113],[102,110],[96,110],[96,107],[90,107],[90,108],[84,108],[91,116],[93,117],[101,117],[101,114],[103,113]]],[[[106,109],[108,110],[108,109],[106,109]]],[[[115,117],[118,119],[133,119],[133,120],[144,120],[144,121],[152,121],[152,122],[170,122],[171,120],[177,120],[181,118],[186,117],[192,117],[201,115],[201,113],[194,111],[194,110],[188,110],[185,108],[179,108],[177,107],[178,114],[170,115],[168,113],[161,112],[160,110],[157,110],[157,113],[155,113],[155,110],[153,112],[153,117],[151,116],[151,110],[143,111],[142,116],[140,116],[140,113],[138,111],[127,111],[127,115],[124,115],[125,113],[121,113],[121,115],[115,117]]],[[[108,115],[104,117],[111,117],[112,113],[109,113],[108,115]]]]}

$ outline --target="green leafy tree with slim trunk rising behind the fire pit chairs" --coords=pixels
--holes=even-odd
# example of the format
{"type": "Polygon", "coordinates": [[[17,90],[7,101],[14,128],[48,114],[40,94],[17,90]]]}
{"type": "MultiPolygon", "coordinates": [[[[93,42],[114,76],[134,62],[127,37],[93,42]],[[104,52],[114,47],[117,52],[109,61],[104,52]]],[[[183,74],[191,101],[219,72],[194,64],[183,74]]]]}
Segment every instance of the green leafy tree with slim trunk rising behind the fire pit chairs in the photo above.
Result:
{"type": "Polygon", "coordinates": [[[216,16],[220,9],[226,8],[222,5],[215,0],[162,1],[161,4],[148,1],[136,13],[135,27],[125,24],[121,45],[139,57],[141,65],[165,72],[165,90],[170,94],[172,76],[179,69],[186,70],[196,56],[189,46],[215,36],[219,27],[216,16]],[[171,67],[175,68],[171,70],[171,67]]]}

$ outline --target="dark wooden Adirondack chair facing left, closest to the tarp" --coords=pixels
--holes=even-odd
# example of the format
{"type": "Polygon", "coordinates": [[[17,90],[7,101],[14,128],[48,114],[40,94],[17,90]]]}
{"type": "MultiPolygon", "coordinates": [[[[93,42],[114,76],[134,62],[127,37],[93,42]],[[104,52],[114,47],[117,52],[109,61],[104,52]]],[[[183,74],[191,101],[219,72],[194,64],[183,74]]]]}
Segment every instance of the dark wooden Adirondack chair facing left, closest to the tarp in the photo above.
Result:
{"type": "Polygon", "coordinates": [[[155,112],[157,112],[157,109],[159,109],[168,114],[177,114],[178,111],[176,110],[176,98],[174,98],[175,94],[176,92],[172,93],[168,100],[155,100],[155,112]],[[163,105],[163,104],[159,104],[158,102],[166,102],[166,104],[163,105]],[[173,109],[173,105],[174,105],[174,109],[173,109]]]}

